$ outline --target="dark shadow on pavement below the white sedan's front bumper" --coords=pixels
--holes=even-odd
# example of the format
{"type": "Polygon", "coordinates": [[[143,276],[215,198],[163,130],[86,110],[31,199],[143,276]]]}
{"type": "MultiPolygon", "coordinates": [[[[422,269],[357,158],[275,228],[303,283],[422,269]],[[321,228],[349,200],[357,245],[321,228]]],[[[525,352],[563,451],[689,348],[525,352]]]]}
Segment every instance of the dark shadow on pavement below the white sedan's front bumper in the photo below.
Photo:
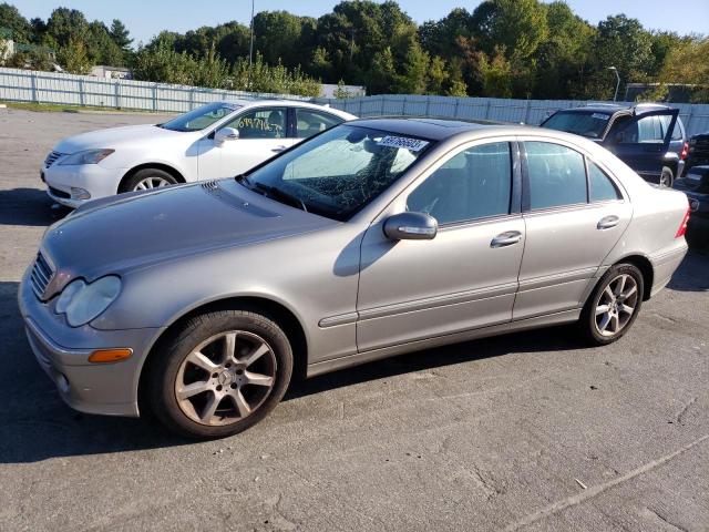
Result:
{"type": "Polygon", "coordinates": [[[38,188],[0,190],[0,225],[47,226],[70,212],[38,188]]]}

